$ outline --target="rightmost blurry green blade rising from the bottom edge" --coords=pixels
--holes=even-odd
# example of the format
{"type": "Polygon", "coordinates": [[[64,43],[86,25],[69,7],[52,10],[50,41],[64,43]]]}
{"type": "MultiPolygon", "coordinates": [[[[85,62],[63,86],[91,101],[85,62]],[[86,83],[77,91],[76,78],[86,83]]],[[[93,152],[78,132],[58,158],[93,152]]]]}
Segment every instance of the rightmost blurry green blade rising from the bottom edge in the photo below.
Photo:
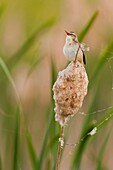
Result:
{"type": "Polygon", "coordinates": [[[105,149],[106,149],[106,146],[107,146],[107,143],[108,143],[108,139],[109,139],[109,135],[110,133],[106,136],[104,142],[103,142],[103,145],[100,149],[100,152],[98,154],[98,159],[97,159],[97,167],[96,167],[96,170],[101,170],[102,169],[102,161],[103,161],[103,157],[104,157],[104,153],[105,153],[105,149]]]}

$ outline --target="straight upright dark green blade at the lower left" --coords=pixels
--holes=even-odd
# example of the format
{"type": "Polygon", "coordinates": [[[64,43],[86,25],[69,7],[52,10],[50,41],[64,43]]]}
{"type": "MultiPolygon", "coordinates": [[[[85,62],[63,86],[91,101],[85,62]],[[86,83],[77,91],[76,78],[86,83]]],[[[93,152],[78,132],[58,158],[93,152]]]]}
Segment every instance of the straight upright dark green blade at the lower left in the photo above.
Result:
{"type": "Polygon", "coordinates": [[[19,169],[19,136],[20,136],[20,112],[19,108],[16,111],[15,133],[14,133],[14,156],[13,170],[19,169]]]}

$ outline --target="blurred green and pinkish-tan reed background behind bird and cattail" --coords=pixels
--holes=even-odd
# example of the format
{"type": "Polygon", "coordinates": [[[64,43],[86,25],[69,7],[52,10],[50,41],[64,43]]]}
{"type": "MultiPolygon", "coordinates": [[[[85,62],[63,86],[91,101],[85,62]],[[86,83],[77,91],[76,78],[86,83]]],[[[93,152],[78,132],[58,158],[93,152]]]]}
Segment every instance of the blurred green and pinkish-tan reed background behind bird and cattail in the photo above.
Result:
{"type": "Polygon", "coordinates": [[[0,170],[55,170],[60,127],[52,86],[67,64],[64,30],[90,47],[89,90],[81,109],[88,115],[77,114],[65,129],[69,145],[60,169],[113,169],[112,116],[105,121],[113,111],[107,109],[113,105],[112,20],[112,0],[0,0],[0,170]],[[94,137],[71,145],[103,121],[94,137]]]}

